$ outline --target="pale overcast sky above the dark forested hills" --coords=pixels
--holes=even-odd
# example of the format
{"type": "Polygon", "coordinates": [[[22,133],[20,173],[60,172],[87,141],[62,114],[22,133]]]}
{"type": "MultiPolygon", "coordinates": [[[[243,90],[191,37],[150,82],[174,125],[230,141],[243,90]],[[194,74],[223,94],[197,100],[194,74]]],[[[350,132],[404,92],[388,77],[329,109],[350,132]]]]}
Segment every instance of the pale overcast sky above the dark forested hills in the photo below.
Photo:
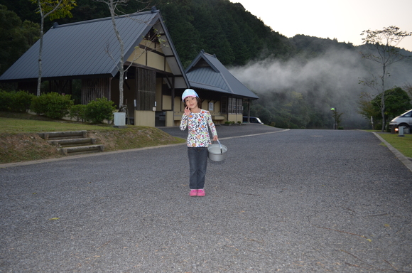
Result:
{"type": "MultiPolygon", "coordinates": [[[[412,0],[230,0],[286,37],[296,34],[362,44],[362,31],[398,26],[412,32],[412,0]]],[[[398,45],[412,51],[412,36],[398,45]]]]}

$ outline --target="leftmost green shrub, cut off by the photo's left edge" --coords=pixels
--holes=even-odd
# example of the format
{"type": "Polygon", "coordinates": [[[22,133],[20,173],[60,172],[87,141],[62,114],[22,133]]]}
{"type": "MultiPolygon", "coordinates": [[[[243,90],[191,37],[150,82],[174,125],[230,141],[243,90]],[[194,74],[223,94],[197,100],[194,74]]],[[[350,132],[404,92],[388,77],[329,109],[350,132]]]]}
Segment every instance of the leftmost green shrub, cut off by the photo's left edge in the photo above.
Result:
{"type": "Polygon", "coordinates": [[[6,92],[0,90],[0,111],[26,112],[35,97],[27,91],[6,92]]]}

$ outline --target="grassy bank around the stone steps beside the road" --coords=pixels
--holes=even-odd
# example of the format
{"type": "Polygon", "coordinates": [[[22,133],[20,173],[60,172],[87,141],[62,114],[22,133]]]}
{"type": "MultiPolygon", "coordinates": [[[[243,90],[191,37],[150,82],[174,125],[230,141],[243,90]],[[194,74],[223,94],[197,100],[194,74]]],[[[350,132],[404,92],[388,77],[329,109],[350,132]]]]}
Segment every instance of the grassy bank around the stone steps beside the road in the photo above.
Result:
{"type": "Polygon", "coordinates": [[[109,124],[85,124],[53,120],[31,114],[0,112],[0,164],[61,157],[56,147],[38,137],[38,132],[87,130],[104,151],[135,149],[185,142],[153,127],[114,128],[109,124]]]}

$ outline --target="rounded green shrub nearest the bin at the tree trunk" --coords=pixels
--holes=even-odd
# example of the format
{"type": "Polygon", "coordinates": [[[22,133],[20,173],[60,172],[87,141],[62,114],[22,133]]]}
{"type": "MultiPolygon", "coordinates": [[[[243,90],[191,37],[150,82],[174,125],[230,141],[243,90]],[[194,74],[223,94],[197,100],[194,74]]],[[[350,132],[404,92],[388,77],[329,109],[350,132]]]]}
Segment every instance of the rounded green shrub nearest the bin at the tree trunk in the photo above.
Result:
{"type": "Polygon", "coordinates": [[[85,119],[92,123],[102,123],[104,119],[109,122],[113,120],[114,102],[107,100],[106,97],[92,100],[86,105],[85,119]]]}

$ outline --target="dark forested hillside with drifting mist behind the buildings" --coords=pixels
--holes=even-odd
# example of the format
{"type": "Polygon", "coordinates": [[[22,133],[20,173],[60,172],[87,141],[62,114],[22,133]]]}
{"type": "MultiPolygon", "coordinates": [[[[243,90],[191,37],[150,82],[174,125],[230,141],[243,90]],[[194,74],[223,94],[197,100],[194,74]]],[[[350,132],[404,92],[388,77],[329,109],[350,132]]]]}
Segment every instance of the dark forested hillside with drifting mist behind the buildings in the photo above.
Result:
{"type": "MultiPolygon", "coordinates": [[[[59,24],[109,16],[102,3],[76,2],[72,17],[56,20],[59,24]]],[[[6,49],[0,54],[0,73],[4,73],[36,42],[40,16],[28,0],[0,0],[0,5],[0,43],[6,49]]],[[[331,129],[334,119],[330,108],[335,107],[343,113],[340,126],[345,129],[370,127],[369,120],[358,114],[359,97],[363,92],[376,94],[359,80],[379,73],[381,68],[359,54],[367,50],[365,45],[305,35],[288,38],[266,26],[242,4],[228,0],[158,0],[151,1],[148,8],[153,5],[161,11],[183,66],[202,49],[217,55],[235,77],[259,95],[251,115],[266,124],[331,129]]],[[[144,8],[145,4],[130,0],[121,11],[131,14],[144,8]]],[[[46,23],[48,30],[53,21],[46,23]]],[[[406,50],[401,53],[412,55],[406,50]]],[[[408,90],[412,60],[394,64],[389,73],[388,88],[408,90]]]]}

